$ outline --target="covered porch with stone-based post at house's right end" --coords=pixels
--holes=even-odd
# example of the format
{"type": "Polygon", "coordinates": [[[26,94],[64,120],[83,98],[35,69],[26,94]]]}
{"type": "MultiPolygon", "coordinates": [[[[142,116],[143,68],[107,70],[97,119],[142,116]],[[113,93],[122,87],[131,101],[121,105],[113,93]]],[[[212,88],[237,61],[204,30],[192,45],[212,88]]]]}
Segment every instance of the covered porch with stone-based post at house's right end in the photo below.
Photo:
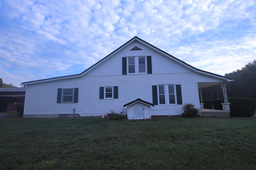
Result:
{"type": "Polygon", "coordinates": [[[229,117],[230,103],[228,102],[226,84],[228,84],[228,82],[198,82],[200,110],[201,110],[202,117],[229,117]],[[203,100],[208,100],[208,99],[203,99],[202,90],[204,88],[208,88],[208,87],[216,86],[216,85],[220,86],[222,89],[222,94],[223,94],[223,98],[224,98],[224,103],[222,103],[222,110],[205,109],[203,100]]]}

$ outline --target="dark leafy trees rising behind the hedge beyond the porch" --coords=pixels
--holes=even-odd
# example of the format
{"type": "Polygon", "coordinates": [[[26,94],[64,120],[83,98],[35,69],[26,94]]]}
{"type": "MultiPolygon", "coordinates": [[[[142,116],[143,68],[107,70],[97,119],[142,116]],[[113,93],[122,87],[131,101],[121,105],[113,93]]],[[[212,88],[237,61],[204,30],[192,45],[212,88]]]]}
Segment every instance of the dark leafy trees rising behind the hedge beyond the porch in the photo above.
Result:
{"type": "Polygon", "coordinates": [[[226,86],[228,97],[245,97],[256,99],[256,60],[246,64],[241,70],[226,73],[234,82],[226,86]]]}

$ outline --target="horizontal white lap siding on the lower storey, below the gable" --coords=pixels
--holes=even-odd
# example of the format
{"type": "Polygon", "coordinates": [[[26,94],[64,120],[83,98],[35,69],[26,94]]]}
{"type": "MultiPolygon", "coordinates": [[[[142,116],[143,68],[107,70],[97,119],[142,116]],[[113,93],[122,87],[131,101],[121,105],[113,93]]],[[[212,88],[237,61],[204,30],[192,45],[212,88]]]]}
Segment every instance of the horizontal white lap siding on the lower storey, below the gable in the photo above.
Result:
{"type": "MultiPolygon", "coordinates": [[[[123,105],[137,98],[152,103],[152,86],[157,84],[180,84],[182,102],[199,106],[197,82],[219,80],[197,73],[186,74],[140,74],[120,76],[84,76],[67,80],[29,85],[26,92],[25,114],[76,113],[84,116],[102,115],[114,110],[127,114],[123,105]],[[100,100],[101,86],[118,86],[118,99],[100,100]],[[57,104],[58,88],[79,88],[78,103],[57,104]]],[[[182,105],[155,106],[152,115],[179,115],[182,105]]]]}

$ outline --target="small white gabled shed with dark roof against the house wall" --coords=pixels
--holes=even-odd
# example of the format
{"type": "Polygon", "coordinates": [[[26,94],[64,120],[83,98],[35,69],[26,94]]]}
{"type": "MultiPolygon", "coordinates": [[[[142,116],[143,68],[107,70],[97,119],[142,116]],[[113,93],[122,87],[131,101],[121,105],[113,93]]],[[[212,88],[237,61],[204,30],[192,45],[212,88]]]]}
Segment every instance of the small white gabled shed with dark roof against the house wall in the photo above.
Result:
{"type": "Polygon", "coordinates": [[[127,107],[128,119],[151,119],[151,107],[154,107],[154,104],[138,98],[124,107],[127,107]]]}

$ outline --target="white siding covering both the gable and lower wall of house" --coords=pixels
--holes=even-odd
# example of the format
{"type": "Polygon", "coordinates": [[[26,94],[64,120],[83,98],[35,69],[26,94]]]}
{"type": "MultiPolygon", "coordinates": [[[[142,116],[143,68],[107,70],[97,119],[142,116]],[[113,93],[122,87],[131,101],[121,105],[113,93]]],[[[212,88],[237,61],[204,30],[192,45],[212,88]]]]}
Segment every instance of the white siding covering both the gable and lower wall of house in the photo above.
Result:
{"type": "MultiPolygon", "coordinates": [[[[147,46],[134,42],[82,77],[28,85],[24,115],[72,114],[74,108],[82,116],[104,115],[110,110],[127,114],[127,108],[123,105],[137,98],[152,103],[152,86],[158,84],[180,84],[183,104],[191,103],[200,108],[198,82],[222,81],[192,72],[147,46]],[[129,51],[135,45],[143,50],[129,51]],[[122,75],[122,57],[127,56],[152,56],[152,74],[122,75]],[[118,99],[100,100],[102,86],[118,86],[118,99]],[[57,104],[58,88],[79,88],[78,103],[57,104]]],[[[151,115],[180,115],[182,106],[156,105],[149,111],[151,115]]]]}

